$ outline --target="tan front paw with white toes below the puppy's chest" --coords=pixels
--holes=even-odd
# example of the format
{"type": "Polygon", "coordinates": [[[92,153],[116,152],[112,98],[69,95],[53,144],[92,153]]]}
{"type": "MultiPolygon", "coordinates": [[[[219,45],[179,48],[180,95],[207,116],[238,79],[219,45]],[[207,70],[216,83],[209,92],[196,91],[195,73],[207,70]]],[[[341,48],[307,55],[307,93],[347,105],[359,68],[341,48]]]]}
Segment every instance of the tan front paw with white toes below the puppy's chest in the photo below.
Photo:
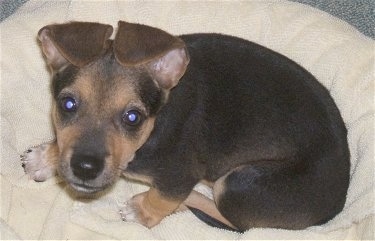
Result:
{"type": "Polygon", "coordinates": [[[125,203],[125,206],[120,209],[119,213],[123,221],[137,222],[148,228],[152,228],[164,218],[145,206],[146,193],[141,193],[134,196],[125,203]]]}

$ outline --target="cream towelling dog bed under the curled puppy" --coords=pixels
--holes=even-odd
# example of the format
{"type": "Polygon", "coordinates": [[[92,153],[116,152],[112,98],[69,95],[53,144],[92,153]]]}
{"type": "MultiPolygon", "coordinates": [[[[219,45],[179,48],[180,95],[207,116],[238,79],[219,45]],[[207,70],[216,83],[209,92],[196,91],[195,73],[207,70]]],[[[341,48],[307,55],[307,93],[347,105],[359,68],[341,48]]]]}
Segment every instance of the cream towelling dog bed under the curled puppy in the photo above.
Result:
{"type": "MultiPolygon", "coordinates": [[[[374,41],[349,24],[288,1],[31,0],[0,27],[1,239],[374,238],[374,41]],[[300,231],[256,228],[239,234],[207,226],[190,212],[147,229],[118,214],[122,203],[146,186],[120,179],[104,195],[77,197],[58,177],[29,180],[19,155],[53,139],[50,76],[36,34],[47,24],[71,20],[113,26],[124,20],[176,35],[225,33],[300,63],[330,90],[348,128],[351,174],[344,210],[324,225],[300,231]]],[[[211,194],[205,186],[196,188],[211,194]]]]}

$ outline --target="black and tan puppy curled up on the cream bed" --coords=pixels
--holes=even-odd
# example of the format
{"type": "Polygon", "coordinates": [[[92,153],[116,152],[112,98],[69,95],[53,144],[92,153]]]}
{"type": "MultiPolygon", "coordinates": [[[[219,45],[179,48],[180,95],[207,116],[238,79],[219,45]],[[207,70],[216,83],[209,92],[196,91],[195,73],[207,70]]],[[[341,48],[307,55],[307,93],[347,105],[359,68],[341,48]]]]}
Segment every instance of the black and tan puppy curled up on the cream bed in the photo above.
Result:
{"type": "Polygon", "coordinates": [[[119,22],[49,25],[56,141],[22,156],[101,191],[124,174],[150,190],[121,210],[147,227],[190,208],[213,225],[303,229],[333,218],[349,182],[347,132],[328,91],[269,49],[219,34],[175,37],[119,22]],[[214,201],[192,191],[213,188],[214,201]]]}

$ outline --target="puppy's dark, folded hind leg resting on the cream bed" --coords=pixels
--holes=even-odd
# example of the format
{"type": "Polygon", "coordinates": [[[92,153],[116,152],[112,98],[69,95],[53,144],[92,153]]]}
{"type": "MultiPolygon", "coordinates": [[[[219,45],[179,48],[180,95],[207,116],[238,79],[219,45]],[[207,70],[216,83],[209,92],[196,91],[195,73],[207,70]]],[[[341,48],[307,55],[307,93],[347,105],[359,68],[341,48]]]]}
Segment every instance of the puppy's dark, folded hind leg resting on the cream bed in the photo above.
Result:
{"type": "Polygon", "coordinates": [[[327,209],[317,183],[301,163],[259,161],[216,181],[214,196],[220,213],[241,230],[304,229],[317,224],[327,209]]]}

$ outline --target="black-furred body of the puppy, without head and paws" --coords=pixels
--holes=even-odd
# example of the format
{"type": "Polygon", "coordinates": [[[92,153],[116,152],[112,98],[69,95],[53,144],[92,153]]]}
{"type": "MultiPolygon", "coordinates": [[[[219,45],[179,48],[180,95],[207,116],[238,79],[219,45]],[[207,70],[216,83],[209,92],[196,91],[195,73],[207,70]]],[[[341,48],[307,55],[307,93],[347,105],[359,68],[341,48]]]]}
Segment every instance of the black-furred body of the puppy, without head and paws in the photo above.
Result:
{"type": "Polygon", "coordinates": [[[128,172],[183,200],[230,173],[217,200],[241,230],[334,217],[349,184],[346,128],[329,92],[288,58],[217,34],[181,36],[191,58],[128,172]],[[237,169],[236,169],[237,168],[237,169]]]}

